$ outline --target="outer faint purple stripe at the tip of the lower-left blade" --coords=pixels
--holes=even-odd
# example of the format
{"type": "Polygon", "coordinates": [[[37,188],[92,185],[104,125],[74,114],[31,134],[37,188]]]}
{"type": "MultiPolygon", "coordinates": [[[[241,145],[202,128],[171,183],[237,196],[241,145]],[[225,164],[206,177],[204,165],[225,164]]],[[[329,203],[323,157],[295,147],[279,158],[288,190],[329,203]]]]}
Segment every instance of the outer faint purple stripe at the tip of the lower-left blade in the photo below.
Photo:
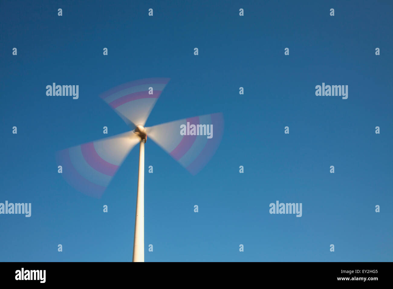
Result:
{"type": "Polygon", "coordinates": [[[68,149],[58,151],[56,153],[56,161],[58,166],[62,166],[61,175],[68,182],[68,184],[85,195],[95,197],[97,199],[101,198],[106,187],[94,184],[82,177],[73,167],[70,158],[70,151],[68,149]]]}

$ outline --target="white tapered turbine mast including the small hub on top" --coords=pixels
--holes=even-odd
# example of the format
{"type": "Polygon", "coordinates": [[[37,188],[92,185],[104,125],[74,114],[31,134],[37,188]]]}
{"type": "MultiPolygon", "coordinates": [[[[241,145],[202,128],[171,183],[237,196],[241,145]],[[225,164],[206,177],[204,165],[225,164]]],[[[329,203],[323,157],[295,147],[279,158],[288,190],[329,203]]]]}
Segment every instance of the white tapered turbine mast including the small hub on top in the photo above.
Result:
{"type": "Polygon", "coordinates": [[[144,209],[144,179],[145,179],[145,141],[144,127],[136,128],[135,133],[141,136],[139,146],[138,194],[136,196],[134,250],[132,262],[145,261],[145,209],[144,209]],[[143,129],[142,129],[143,128],[143,129]]]}

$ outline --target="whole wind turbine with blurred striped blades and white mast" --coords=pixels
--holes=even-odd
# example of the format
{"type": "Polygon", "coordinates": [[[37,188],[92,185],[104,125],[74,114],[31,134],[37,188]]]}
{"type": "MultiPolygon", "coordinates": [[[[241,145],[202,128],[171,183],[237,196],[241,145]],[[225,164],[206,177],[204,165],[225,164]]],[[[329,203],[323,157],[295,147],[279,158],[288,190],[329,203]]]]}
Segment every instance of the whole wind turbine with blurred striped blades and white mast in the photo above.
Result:
{"type": "Polygon", "coordinates": [[[196,175],[214,155],[224,131],[222,113],[145,127],[146,120],[168,81],[169,78],[140,79],[104,92],[100,97],[132,130],[56,153],[57,164],[62,166],[64,179],[78,191],[101,198],[123,160],[139,143],[133,262],[144,261],[144,171],[147,136],[191,174],[196,175]]]}

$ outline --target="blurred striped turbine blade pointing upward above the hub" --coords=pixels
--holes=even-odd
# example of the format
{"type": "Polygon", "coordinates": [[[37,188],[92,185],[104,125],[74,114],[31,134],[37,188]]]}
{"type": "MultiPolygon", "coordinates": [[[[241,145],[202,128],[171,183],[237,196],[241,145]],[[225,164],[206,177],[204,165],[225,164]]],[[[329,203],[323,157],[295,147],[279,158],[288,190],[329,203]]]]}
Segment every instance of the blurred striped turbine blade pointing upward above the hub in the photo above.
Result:
{"type": "Polygon", "coordinates": [[[146,78],[114,87],[100,95],[128,124],[145,126],[151,110],[169,78],[146,78]],[[149,94],[149,87],[152,91],[149,94]]]}

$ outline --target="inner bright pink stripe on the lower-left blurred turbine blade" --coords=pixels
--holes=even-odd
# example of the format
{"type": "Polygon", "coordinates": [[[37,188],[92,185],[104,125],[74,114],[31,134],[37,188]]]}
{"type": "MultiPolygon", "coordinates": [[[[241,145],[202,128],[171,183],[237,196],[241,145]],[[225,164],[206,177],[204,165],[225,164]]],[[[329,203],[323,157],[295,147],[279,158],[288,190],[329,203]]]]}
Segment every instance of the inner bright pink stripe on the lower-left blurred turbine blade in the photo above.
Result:
{"type": "Polygon", "coordinates": [[[82,155],[86,162],[96,171],[108,176],[114,176],[119,166],[111,164],[103,160],[101,156],[95,151],[94,143],[88,142],[81,145],[82,155]]]}

